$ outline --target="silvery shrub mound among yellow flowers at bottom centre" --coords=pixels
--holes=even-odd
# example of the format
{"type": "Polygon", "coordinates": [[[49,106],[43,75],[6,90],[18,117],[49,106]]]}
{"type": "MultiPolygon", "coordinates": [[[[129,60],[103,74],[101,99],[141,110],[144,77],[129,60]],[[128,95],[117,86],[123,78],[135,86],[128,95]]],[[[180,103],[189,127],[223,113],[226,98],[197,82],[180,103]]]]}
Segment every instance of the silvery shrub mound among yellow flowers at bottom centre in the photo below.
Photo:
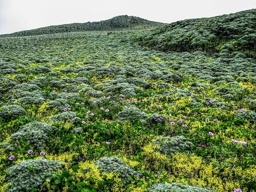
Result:
{"type": "Polygon", "coordinates": [[[119,173],[124,185],[127,185],[130,181],[128,177],[142,177],[142,174],[138,171],[135,171],[131,166],[124,164],[123,160],[118,157],[102,157],[97,161],[94,161],[94,164],[99,165],[101,172],[115,172],[119,173]]]}

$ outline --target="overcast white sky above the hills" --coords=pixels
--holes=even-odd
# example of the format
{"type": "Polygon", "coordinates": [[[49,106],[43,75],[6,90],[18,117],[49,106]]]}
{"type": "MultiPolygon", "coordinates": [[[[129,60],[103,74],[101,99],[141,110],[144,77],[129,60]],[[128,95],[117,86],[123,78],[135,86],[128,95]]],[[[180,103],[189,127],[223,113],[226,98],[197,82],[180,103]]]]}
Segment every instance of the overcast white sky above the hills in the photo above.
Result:
{"type": "Polygon", "coordinates": [[[0,34],[133,15],[171,23],[256,8],[256,0],[0,0],[0,34]]]}

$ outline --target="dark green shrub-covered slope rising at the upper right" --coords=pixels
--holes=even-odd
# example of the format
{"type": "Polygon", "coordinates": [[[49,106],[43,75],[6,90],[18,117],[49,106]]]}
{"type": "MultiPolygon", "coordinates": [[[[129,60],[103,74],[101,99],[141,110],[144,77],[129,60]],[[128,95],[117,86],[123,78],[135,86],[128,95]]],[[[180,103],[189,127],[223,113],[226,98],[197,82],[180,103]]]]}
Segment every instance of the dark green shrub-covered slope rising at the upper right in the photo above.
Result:
{"type": "Polygon", "coordinates": [[[256,58],[256,9],[173,22],[138,32],[132,41],[164,52],[212,54],[225,49],[256,58]]]}

